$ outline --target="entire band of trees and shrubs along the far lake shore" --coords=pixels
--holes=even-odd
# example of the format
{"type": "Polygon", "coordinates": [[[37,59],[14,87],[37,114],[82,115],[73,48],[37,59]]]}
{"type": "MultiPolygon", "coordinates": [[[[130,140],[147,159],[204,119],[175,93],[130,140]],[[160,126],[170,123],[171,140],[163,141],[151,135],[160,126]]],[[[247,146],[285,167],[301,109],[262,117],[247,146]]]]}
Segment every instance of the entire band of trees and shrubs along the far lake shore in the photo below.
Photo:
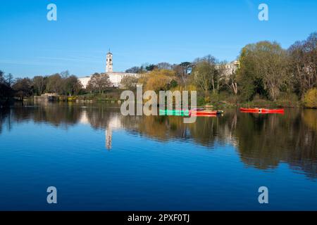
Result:
{"type": "MultiPolygon", "coordinates": [[[[199,105],[220,107],[283,106],[317,108],[317,32],[304,41],[282,49],[275,41],[247,44],[237,58],[238,67],[208,55],[180,64],[158,63],[132,67],[125,72],[139,73],[139,79],[125,77],[121,85],[144,90],[197,90],[199,105]]],[[[13,97],[23,99],[51,92],[66,99],[119,100],[120,91],[111,87],[108,76],[95,73],[86,89],[68,71],[50,76],[13,79],[0,72],[0,103],[13,97]],[[74,97],[75,96],[75,97],[74,97]]]]}

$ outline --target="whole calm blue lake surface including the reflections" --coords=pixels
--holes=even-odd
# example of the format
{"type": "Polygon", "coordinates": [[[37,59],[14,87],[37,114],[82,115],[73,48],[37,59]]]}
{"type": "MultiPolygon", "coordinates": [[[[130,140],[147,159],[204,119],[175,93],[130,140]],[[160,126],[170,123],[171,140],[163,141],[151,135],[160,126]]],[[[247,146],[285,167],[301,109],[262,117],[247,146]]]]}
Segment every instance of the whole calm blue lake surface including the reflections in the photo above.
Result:
{"type": "Polygon", "coordinates": [[[116,105],[15,105],[0,110],[0,181],[0,210],[317,210],[317,110],[183,124],[116,105]]]}

